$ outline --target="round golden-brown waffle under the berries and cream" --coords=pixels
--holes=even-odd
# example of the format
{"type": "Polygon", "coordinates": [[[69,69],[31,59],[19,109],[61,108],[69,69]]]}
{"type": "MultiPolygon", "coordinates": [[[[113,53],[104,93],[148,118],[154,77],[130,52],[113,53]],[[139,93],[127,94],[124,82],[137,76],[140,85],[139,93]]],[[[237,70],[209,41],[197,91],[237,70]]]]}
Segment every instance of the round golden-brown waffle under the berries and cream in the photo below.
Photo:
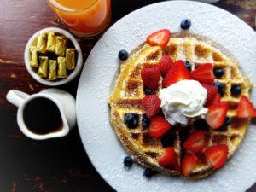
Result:
{"type": "MultiPolygon", "coordinates": [[[[143,67],[158,64],[163,54],[170,55],[172,61],[189,61],[192,70],[204,63],[212,63],[213,68],[224,69],[224,75],[220,79],[214,79],[214,81],[224,84],[225,93],[221,101],[229,104],[227,117],[230,117],[231,124],[224,129],[212,130],[206,128],[205,131],[207,131],[206,147],[212,146],[213,144],[226,144],[229,148],[228,159],[236,152],[236,149],[246,135],[250,119],[238,119],[236,117],[236,107],[241,95],[249,96],[253,84],[250,83],[248,78],[242,77],[236,61],[224,55],[210,42],[205,42],[194,37],[171,38],[165,49],[162,49],[160,46],[151,46],[144,43],[131,53],[127,61],[121,64],[119,78],[108,98],[111,108],[110,121],[114,131],[128,153],[131,154],[138,164],[158,172],[166,173],[169,176],[183,177],[181,172],[166,169],[158,164],[157,158],[163,154],[164,150],[161,144],[161,137],[149,137],[149,129],[142,126],[145,111],[140,105],[140,100],[146,95],[143,90],[141,70],[143,67]],[[230,93],[232,85],[241,86],[242,91],[239,96],[232,96],[230,93]],[[125,125],[126,113],[137,114],[139,120],[137,128],[129,129],[125,125]]],[[[155,90],[156,95],[160,93],[161,81],[162,79],[160,79],[159,86],[155,90]]],[[[188,137],[192,132],[205,127],[201,123],[199,120],[195,121],[195,124],[189,125],[189,127],[176,125],[171,128],[173,137],[172,148],[177,152],[179,164],[184,154],[182,148],[183,137],[188,137]]],[[[213,171],[214,168],[212,165],[201,154],[198,156],[198,162],[195,168],[187,178],[207,177],[213,171]]]]}

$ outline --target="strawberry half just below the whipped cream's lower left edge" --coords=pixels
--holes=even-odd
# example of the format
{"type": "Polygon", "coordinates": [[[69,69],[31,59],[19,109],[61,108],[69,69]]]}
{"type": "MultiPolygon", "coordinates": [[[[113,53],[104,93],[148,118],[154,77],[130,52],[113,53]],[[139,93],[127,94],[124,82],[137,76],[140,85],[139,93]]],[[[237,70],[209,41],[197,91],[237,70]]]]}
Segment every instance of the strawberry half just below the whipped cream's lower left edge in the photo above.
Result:
{"type": "Polygon", "coordinates": [[[149,136],[151,137],[160,137],[166,133],[166,131],[170,130],[172,125],[166,121],[166,119],[156,116],[150,119],[149,126],[149,136]]]}

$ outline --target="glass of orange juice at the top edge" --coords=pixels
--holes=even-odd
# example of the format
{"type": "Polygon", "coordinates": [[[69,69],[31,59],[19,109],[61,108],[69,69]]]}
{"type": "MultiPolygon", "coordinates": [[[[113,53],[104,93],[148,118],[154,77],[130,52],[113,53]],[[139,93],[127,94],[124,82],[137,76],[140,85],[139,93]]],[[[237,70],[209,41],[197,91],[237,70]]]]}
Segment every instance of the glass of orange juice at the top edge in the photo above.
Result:
{"type": "Polygon", "coordinates": [[[108,26],[110,0],[47,0],[49,7],[80,38],[94,38],[108,26]]]}

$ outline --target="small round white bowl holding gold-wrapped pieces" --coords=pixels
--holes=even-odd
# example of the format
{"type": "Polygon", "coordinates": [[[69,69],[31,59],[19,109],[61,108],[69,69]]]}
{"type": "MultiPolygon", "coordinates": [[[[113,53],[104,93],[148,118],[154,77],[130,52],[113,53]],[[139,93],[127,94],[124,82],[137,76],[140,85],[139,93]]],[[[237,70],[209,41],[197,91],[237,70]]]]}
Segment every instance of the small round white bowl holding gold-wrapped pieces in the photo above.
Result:
{"type": "Polygon", "coordinates": [[[67,82],[73,80],[79,74],[79,72],[81,71],[81,69],[83,67],[83,55],[82,55],[82,50],[79,46],[78,41],[73,37],[73,35],[70,32],[67,32],[66,30],[56,28],[56,27],[44,28],[32,35],[32,37],[28,40],[28,42],[26,44],[26,48],[25,48],[25,52],[24,52],[24,61],[25,61],[26,69],[27,69],[28,73],[31,74],[32,78],[36,79],[41,84],[46,84],[49,86],[57,86],[57,85],[61,85],[61,84],[67,84],[67,82]],[[38,73],[35,73],[33,71],[32,67],[30,67],[29,47],[32,45],[34,40],[36,38],[38,38],[38,35],[40,32],[59,32],[59,33],[65,35],[67,38],[69,38],[72,41],[75,49],[77,49],[77,53],[78,53],[77,58],[78,59],[77,59],[76,67],[73,69],[72,73],[67,74],[67,78],[57,79],[55,81],[49,81],[47,79],[41,78],[38,75],[38,73]]]}

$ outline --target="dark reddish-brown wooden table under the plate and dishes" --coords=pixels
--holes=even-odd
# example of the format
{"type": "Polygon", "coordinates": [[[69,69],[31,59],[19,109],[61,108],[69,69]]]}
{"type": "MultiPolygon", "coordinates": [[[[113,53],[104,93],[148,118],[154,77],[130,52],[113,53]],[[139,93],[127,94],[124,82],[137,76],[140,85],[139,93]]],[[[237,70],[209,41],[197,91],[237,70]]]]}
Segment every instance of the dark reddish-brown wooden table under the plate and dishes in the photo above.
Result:
{"type": "MultiPolygon", "coordinates": [[[[112,24],[132,10],[160,2],[155,0],[113,0],[112,24]]],[[[255,0],[222,0],[215,3],[254,26],[255,0]]],[[[27,73],[23,51],[34,32],[63,26],[41,0],[2,0],[0,11],[0,191],[11,192],[82,192],[113,191],[90,164],[75,128],[67,137],[34,141],[25,137],[16,123],[16,111],[6,101],[8,90],[23,90],[29,94],[44,90],[27,73]]],[[[94,40],[80,40],[84,61],[96,44],[94,40]]],[[[76,95],[79,77],[59,88],[76,95]]],[[[253,192],[256,190],[249,189],[253,192]]]]}

